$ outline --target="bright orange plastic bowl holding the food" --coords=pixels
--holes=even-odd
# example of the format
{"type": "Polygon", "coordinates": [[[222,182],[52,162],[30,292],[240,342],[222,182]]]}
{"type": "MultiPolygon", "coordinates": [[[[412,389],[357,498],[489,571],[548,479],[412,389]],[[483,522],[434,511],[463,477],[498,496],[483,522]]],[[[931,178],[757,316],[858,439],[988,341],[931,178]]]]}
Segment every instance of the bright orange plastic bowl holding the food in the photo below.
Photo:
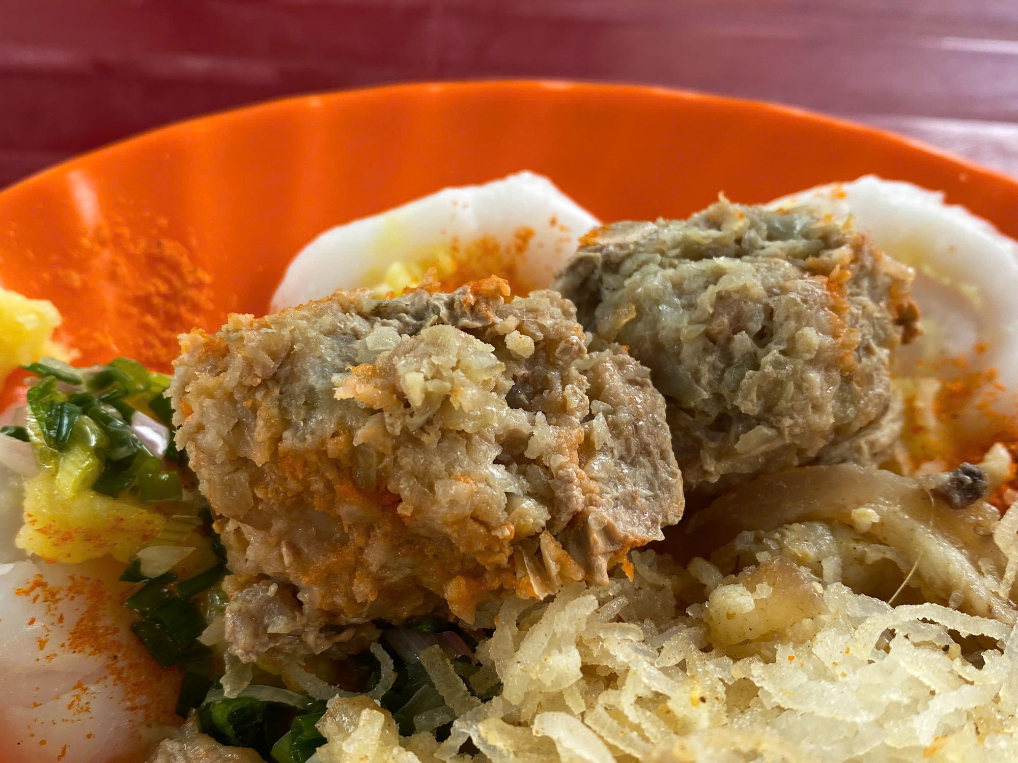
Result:
{"type": "Polygon", "coordinates": [[[521,169],[604,220],[876,173],[1018,235],[1012,179],[794,109],[633,85],[404,84],[183,122],[18,183],[0,193],[0,283],[52,300],[81,362],[165,368],[178,332],[263,312],[321,231],[521,169]]]}

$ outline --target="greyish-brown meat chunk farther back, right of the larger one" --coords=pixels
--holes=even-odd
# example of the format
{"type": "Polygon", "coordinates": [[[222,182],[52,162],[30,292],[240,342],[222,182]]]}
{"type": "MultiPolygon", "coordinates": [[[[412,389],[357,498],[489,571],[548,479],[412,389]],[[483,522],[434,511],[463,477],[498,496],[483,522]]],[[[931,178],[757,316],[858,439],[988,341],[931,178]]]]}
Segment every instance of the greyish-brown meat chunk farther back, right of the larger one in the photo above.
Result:
{"type": "Polygon", "coordinates": [[[687,491],[888,455],[902,425],[891,352],[917,333],[912,272],[850,221],[723,197],[582,244],[553,288],[651,368],[687,491]]]}

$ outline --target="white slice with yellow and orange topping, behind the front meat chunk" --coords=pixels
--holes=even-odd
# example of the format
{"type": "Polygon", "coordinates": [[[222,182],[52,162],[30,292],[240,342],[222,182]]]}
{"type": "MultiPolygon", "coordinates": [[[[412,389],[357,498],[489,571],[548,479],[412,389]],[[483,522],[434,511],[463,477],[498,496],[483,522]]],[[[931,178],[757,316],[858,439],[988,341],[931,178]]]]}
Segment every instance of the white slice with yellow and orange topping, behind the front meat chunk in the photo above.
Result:
{"type": "Polygon", "coordinates": [[[374,287],[384,296],[419,285],[429,270],[444,287],[492,273],[512,274],[517,289],[545,287],[599,224],[532,172],[445,188],[320,235],[290,263],[272,309],[336,289],[374,287]]]}

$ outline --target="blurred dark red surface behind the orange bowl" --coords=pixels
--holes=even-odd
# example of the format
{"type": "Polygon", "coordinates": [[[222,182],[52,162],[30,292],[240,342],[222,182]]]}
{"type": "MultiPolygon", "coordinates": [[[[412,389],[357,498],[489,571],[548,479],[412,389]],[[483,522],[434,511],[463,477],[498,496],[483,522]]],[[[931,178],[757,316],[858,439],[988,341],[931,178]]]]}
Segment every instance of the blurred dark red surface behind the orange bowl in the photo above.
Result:
{"type": "Polygon", "coordinates": [[[1018,174],[1018,0],[0,0],[0,187],[278,96],[516,76],[793,104],[1018,174]]]}

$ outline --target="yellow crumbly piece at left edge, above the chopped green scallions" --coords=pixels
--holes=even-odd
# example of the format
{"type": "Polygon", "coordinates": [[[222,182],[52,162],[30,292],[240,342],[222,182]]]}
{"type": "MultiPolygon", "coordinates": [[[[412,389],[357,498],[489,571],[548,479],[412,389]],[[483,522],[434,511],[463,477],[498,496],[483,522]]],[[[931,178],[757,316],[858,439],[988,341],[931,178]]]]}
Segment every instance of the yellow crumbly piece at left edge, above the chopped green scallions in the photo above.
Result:
{"type": "Polygon", "coordinates": [[[0,380],[44,355],[69,359],[68,352],[53,342],[58,326],[60,313],[52,302],[0,288],[0,380]]]}

